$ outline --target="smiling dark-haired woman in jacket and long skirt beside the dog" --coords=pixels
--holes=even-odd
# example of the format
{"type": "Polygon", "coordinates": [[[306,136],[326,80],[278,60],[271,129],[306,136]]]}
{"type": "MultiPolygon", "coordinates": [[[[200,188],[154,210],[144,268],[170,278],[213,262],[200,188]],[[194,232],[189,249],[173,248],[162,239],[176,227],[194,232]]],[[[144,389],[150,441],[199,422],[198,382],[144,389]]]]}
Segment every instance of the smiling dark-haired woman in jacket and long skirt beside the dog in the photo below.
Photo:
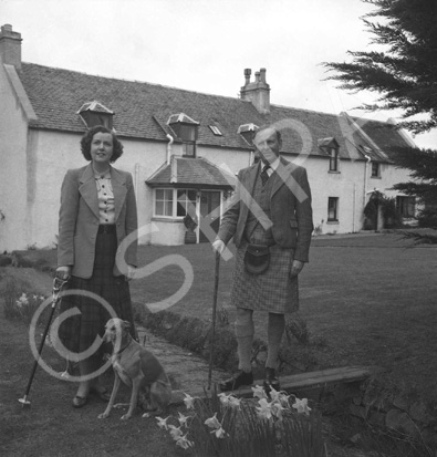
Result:
{"type": "MultiPolygon", "coordinates": [[[[136,238],[126,249],[127,270],[122,274],[115,262],[117,247],[137,229],[137,212],[132,175],[111,166],[123,154],[123,145],[104,126],[90,128],[81,139],[82,154],[91,163],[69,169],[61,189],[59,218],[58,276],[70,276],[69,289],[74,294],[62,300],[61,313],[77,308],[60,325],[59,335],[72,353],[83,353],[93,345],[97,334],[103,335],[110,314],[86,292],[100,295],[118,318],[133,322],[127,280],[136,266],[136,238]],[[81,291],[85,293],[81,294],[81,291]]],[[[102,365],[102,351],[79,361],[81,376],[74,407],[87,403],[90,394],[107,401],[106,390],[93,376],[102,365]]],[[[70,356],[71,360],[74,357],[70,356]]]]}

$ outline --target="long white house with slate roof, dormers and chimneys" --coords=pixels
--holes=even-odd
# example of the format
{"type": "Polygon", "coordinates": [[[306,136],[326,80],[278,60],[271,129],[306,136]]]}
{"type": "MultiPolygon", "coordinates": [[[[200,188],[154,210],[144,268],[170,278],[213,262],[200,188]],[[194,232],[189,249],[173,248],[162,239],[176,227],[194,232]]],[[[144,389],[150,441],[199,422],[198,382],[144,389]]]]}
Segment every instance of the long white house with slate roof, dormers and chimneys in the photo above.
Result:
{"type": "Polygon", "coordinates": [[[271,123],[283,156],[308,169],[316,233],[362,230],[374,189],[414,216],[408,197],[387,190],[408,179],[389,148],[412,144],[392,123],[271,104],[264,69],[254,81],[244,70],[233,98],[25,63],[21,41],[1,27],[0,251],[54,246],[63,176],[85,165],[79,143],[95,124],[124,144],[115,166],[134,177],[141,243],[184,243],[187,210],[197,242],[210,240],[236,173],[256,159],[253,129],[271,123]]]}

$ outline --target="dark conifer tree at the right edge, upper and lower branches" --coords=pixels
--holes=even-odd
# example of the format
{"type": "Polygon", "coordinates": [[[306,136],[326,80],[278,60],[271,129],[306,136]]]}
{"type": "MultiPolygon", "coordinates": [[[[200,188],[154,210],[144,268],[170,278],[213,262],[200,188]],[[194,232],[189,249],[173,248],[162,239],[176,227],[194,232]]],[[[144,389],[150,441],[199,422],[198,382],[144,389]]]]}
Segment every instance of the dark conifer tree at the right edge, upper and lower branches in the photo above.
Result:
{"type": "MultiPolygon", "coordinates": [[[[364,110],[402,112],[399,128],[413,134],[437,127],[437,1],[362,0],[376,7],[363,18],[381,51],[348,51],[352,62],[326,62],[340,89],[378,93],[364,110]],[[377,21],[375,18],[381,18],[377,21]],[[416,116],[416,117],[415,117],[416,116]],[[419,116],[419,120],[417,120],[419,116]]],[[[437,227],[437,150],[396,149],[397,165],[414,180],[393,188],[426,204],[423,219],[437,227]]]]}

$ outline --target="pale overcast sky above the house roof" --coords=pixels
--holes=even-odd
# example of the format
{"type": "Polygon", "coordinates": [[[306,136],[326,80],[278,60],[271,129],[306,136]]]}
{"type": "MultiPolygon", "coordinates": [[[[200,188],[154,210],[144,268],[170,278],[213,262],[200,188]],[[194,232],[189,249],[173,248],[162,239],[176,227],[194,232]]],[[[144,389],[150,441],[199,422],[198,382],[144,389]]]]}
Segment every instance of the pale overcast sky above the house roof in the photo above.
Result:
{"type": "MultiPolygon", "coordinates": [[[[273,104],[386,121],[354,110],[375,93],[336,89],[323,62],[372,49],[361,0],[0,0],[23,62],[237,97],[267,69],[273,104]]],[[[437,131],[414,138],[437,148],[437,131]]]]}

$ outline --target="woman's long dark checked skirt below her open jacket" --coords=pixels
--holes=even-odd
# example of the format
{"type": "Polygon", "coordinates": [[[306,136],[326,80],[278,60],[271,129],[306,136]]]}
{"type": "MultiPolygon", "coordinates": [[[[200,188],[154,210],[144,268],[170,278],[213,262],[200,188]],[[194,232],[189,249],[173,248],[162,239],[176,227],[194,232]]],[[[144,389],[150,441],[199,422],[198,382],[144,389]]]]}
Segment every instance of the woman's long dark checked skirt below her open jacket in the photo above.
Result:
{"type": "MultiPolygon", "coordinates": [[[[114,277],[113,269],[117,250],[116,232],[98,233],[95,243],[95,260],[93,274],[90,279],[71,277],[69,291],[76,293],[63,297],[60,307],[61,314],[77,309],[80,313],[65,319],[59,328],[59,337],[66,350],[73,353],[86,351],[96,336],[103,336],[105,324],[111,314],[106,308],[113,310],[117,318],[131,322],[131,334],[136,337],[129,285],[124,276],[114,277]],[[81,293],[92,292],[102,300],[81,293]]],[[[74,357],[71,357],[72,360],[74,357]]]]}

